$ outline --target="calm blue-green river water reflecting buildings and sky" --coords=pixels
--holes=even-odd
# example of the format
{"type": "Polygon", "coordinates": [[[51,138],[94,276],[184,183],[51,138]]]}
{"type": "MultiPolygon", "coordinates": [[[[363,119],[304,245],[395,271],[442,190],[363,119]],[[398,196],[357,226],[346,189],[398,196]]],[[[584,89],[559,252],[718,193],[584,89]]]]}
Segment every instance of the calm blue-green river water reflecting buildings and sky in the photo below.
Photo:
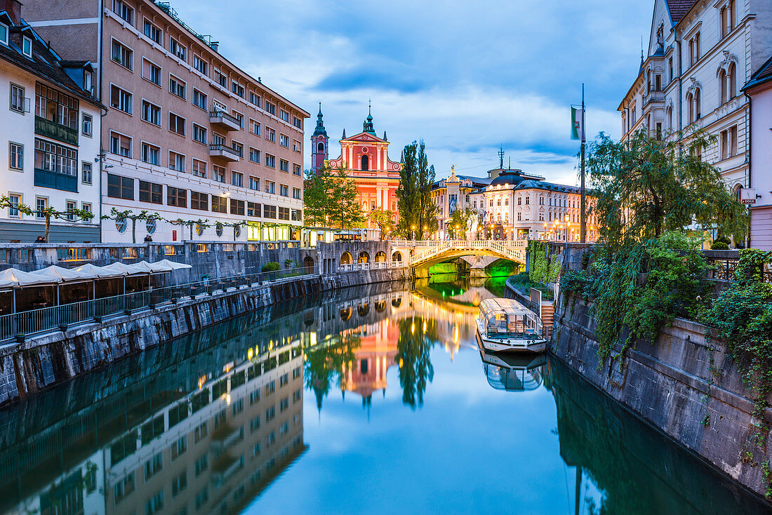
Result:
{"type": "Polygon", "coordinates": [[[768,513],[549,357],[503,281],[251,313],[0,410],[0,513],[768,513]]]}

